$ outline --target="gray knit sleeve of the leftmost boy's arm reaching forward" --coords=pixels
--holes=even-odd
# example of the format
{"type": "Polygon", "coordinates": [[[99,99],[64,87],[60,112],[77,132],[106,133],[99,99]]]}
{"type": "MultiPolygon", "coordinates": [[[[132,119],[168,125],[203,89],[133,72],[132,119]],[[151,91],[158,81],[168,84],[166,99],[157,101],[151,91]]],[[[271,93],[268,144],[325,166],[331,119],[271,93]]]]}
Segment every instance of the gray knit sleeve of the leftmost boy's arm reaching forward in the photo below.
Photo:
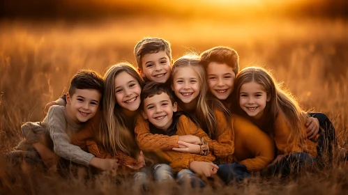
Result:
{"type": "Polygon", "coordinates": [[[54,153],[64,159],[71,160],[77,164],[89,166],[94,157],[91,153],[86,153],[79,146],[70,143],[70,138],[66,134],[66,120],[63,107],[52,106],[45,118],[49,125],[48,130],[54,145],[54,153]]]}

